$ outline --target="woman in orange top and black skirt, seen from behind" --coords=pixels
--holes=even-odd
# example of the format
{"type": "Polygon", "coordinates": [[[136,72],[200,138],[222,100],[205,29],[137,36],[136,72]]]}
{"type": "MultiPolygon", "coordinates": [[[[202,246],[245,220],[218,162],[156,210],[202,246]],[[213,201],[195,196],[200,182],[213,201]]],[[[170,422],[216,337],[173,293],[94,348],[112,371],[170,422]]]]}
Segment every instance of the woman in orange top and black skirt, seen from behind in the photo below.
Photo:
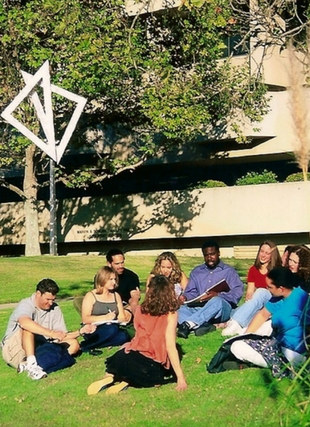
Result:
{"type": "Polygon", "coordinates": [[[107,394],[114,394],[128,386],[154,387],[171,381],[177,382],[176,390],[185,390],[176,347],[178,308],[172,283],[165,276],[154,276],[135,312],[134,338],[107,358],[104,378],[91,384],[87,393],[107,388],[107,394]]]}

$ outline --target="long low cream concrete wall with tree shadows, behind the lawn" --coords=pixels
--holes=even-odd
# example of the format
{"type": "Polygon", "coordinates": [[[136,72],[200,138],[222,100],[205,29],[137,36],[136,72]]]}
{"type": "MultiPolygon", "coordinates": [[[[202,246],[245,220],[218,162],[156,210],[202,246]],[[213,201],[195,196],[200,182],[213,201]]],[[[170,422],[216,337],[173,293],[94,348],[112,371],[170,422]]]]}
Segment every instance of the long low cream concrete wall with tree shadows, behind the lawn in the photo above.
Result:
{"type": "MultiPolygon", "coordinates": [[[[22,204],[2,204],[0,216],[0,243],[23,244],[22,204]]],[[[236,253],[242,252],[242,246],[251,247],[252,254],[256,244],[267,237],[283,246],[299,238],[303,239],[300,243],[309,241],[310,183],[68,199],[59,201],[58,218],[58,242],[136,240],[143,246],[143,242],[161,240],[166,249],[165,241],[171,247],[175,239],[180,248],[183,239],[187,254],[190,249],[199,254],[199,239],[212,236],[225,243],[225,256],[235,255],[234,247],[239,248],[236,253]],[[255,240],[251,240],[253,236],[255,240]]],[[[41,242],[48,242],[48,223],[48,208],[42,203],[41,242]]]]}

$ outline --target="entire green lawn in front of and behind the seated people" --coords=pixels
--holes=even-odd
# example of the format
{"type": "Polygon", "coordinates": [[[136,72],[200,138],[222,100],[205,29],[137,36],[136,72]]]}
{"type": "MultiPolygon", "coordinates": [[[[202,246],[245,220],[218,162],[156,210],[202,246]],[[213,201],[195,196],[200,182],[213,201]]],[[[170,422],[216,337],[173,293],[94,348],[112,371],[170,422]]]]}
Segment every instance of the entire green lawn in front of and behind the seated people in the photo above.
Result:
{"type": "MultiPolygon", "coordinates": [[[[186,273],[201,263],[200,258],[180,258],[186,273]]],[[[151,257],[126,258],[142,283],[152,268],[151,257]]],[[[245,280],[251,260],[228,260],[245,280]]],[[[103,257],[0,258],[0,303],[16,302],[32,293],[42,277],[52,277],[61,288],[61,297],[82,294],[92,286],[92,278],[103,257]]],[[[80,318],[72,301],[60,301],[69,329],[76,329],[80,318]]],[[[0,334],[5,332],[12,308],[0,310],[0,334]]],[[[100,426],[204,426],[276,427],[278,409],[289,387],[289,380],[274,381],[268,370],[246,369],[208,374],[206,363],[223,338],[220,331],[203,337],[179,340],[185,356],[182,366],[188,389],[177,393],[174,384],[153,389],[133,389],[116,396],[104,393],[88,396],[88,385],[104,373],[104,359],[115,349],[104,349],[103,356],[83,354],[70,369],[31,381],[0,362],[1,427],[93,427],[100,426]]],[[[291,424],[293,425],[293,424],[291,424]]]]}

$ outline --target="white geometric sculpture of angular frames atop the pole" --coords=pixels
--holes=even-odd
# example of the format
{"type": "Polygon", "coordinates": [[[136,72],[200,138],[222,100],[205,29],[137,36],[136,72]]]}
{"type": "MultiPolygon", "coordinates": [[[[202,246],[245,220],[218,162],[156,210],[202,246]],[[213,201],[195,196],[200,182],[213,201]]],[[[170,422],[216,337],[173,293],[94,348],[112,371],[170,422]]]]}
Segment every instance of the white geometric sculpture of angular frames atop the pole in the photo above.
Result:
{"type": "Polygon", "coordinates": [[[51,85],[48,61],[44,62],[42,67],[33,76],[24,71],[22,71],[22,75],[26,83],[25,87],[5,108],[1,116],[17,130],[19,130],[23,135],[25,135],[28,139],[30,139],[30,141],[32,141],[39,148],[41,148],[41,150],[44,151],[49,157],[51,157],[56,163],[59,163],[87,100],[82,96],[76,95],[65,89],[61,89],[58,86],[51,85]],[[40,85],[43,88],[44,106],[41,104],[37,92],[33,92],[37,85],[40,85]],[[68,126],[59,143],[56,143],[55,141],[52,93],[57,93],[58,95],[63,96],[64,98],[69,99],[70,101],[76,102],[77,104],[72,114],[72,117],[68,123],[68,126]],[[46,136],[46,142],[42,141],[42,139],[40,139],[37,135],[35,135],[31,130],[29,130],[25,125],[19,122],[12,115],[15,109],[29,95],[36,110],[38,120],[40,121],[42,129],[46,136]]]}

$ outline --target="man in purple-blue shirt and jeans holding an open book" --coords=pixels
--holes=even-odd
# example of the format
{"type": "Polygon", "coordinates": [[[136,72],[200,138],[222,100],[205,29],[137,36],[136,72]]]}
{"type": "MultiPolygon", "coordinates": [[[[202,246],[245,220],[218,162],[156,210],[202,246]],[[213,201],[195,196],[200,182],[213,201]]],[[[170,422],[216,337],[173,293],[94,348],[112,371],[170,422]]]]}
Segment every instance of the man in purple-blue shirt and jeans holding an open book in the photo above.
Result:
{"type": "Polygon", "coordinates": [[[182,305],[179,309],[177,332],[180,338],[188,338],[192,330],[195,335],[203,335],[210,331],[212,323],[227,321],[243,294],[243,283],[236,270],[220,260],[218,243],[214,240],[206,241],[202,245],[202,253],[205,263],[192,270],[184,294],[180,296],[182,305]],[[208,292],[208,289],[223,279],[228,284],[228,292],[208,292]],[[186,301],[204,292],[199,298],[199,306],[187,305],[186,301]]]}

